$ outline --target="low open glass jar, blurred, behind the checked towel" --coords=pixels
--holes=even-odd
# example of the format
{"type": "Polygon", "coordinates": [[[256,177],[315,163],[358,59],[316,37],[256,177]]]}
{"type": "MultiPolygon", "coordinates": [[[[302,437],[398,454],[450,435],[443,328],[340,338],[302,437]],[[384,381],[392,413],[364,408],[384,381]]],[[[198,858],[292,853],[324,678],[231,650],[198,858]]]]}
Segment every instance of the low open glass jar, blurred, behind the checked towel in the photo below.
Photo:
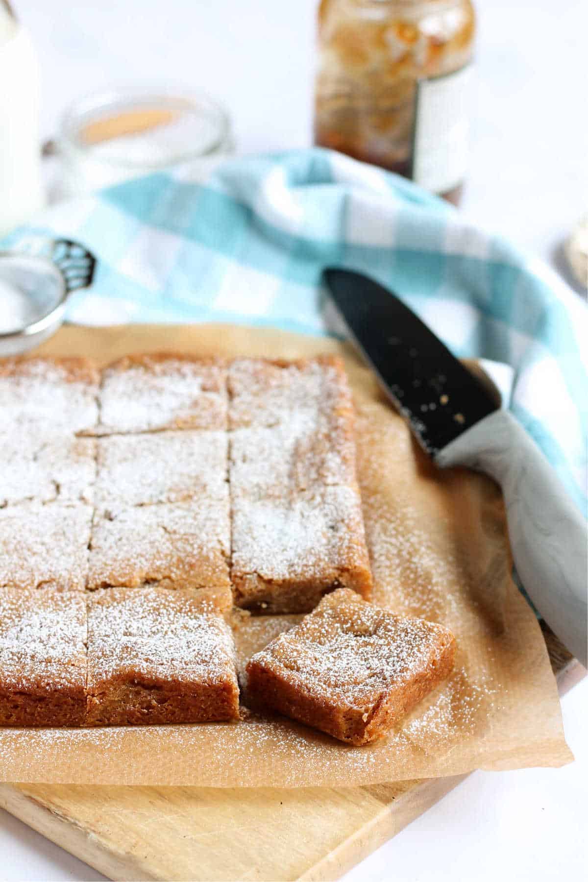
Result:
{"type": "Polygon", "coordinates": [[[191,177],[232,153],[227,112],[205,94],[128,88],[97,93],[63,116],[55,196],[74,196],[169,168],[191,177]]]}

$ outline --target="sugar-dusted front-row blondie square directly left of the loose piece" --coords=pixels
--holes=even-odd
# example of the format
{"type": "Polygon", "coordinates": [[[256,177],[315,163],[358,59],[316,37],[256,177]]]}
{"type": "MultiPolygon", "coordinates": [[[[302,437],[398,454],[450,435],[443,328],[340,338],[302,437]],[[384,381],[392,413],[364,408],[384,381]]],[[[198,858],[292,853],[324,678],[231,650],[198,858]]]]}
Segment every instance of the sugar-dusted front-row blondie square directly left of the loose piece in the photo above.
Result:
{"type": "Polygon", "coordinates": [[[88,726],[236,720],[230,591],[88,595],[88,726]]]}

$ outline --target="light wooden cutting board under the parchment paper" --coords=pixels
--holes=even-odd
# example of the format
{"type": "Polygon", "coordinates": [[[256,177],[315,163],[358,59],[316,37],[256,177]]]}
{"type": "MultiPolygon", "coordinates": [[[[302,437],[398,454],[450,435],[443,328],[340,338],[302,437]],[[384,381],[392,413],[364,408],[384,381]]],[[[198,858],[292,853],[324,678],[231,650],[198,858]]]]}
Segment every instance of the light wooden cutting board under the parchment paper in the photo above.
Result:
{"type": "MultiPolygon", "coordinates": [[[[584,676],[544,629],[560,692],[584,676]]],[[[331,880],[465,775],[348,789],[0,785],[0,806],[108,878],[331,880]]]]}

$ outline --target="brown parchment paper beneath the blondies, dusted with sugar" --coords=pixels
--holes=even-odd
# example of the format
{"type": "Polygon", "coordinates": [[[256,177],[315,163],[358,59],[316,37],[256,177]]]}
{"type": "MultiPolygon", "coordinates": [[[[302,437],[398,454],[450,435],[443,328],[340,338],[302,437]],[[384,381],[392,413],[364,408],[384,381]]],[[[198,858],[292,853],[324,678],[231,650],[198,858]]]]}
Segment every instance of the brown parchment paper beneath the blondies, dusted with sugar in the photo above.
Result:
{"type": "MultiPolygon", "coordinates": [[[[450,680],[388,738],[349,747],[283,718],[120,729],[0,729],[0,780],[200,787],[344,787],[562,766],[573,759],[540,626],[510,578],[496,485],[437,470],[336,340],[231,325],[65,327],[43,354],[107,363],[153,350],[295,357],[339,351],[354,387],[376,602],[447,624],[458,639],[450,680]]],[[[296,617],[234,614],[246,661],[296,617]]]]}

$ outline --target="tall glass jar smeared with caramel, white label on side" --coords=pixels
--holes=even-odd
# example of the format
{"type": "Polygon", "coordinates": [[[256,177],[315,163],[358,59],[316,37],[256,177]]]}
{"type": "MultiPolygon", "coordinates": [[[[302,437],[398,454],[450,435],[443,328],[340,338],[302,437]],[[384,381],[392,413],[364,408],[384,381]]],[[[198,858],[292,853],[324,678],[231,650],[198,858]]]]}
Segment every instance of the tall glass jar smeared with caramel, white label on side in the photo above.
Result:
{"type": "Polygon", "coordinates": [[[465,176],[471,0],[322,0],[315,141],[457,201],[465,176]]]}

